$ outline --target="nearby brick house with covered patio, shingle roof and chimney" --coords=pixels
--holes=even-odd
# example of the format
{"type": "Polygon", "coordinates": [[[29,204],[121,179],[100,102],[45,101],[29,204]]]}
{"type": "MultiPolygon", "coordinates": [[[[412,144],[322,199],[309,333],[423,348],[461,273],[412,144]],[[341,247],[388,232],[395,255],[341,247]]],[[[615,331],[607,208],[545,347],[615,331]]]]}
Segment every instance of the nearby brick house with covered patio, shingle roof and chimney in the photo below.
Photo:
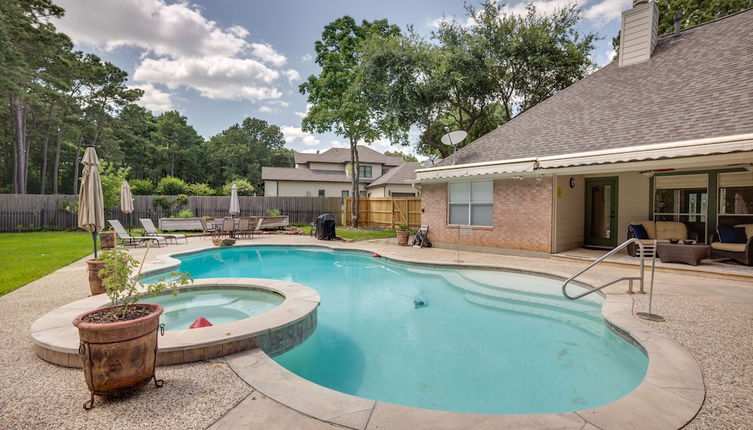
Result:
{"type": "Polygon", "coordinates": [[[419,169],[430,240],[556,253],[615,247],[634,222],[706,243],[752,224],[753,10],[661,38],[657,21],[634,2],[618,59],[419,169]]]}

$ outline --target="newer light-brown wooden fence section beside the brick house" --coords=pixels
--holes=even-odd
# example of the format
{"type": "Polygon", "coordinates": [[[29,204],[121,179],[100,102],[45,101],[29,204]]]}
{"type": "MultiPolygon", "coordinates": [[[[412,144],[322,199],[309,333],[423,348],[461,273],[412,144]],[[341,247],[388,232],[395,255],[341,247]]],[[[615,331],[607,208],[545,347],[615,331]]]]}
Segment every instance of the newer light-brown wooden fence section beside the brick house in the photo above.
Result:
{"type": "MultiPolygon", "coordinates": [[[[350,224],[350,197],[343,203],[344,224],[350,224]]],[[[420,197],[361,197],[358,199],[358,224],[395,229],[408,224],[411,230],[421,226],[420,197]]]]}

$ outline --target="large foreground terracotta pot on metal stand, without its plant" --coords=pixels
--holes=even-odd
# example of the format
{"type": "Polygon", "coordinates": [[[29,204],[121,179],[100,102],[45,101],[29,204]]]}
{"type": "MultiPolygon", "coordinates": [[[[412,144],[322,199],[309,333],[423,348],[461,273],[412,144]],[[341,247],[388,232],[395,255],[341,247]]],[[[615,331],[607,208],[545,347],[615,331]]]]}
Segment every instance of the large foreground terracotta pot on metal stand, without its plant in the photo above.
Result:
{"type": "Polygon", "coordinates": [[[140,303],[153,309],[141,318],[112,323],[91,323],[84,318],[100,308],[83,313],[73,320],[78,327],[81,355],[86,385],[91,399],[84,403],[85,409],[94,406],[94,395],[116,396],[139,389],[154,379],[157,362],[157,330],[163,308],[157,304],[140,303]]]}

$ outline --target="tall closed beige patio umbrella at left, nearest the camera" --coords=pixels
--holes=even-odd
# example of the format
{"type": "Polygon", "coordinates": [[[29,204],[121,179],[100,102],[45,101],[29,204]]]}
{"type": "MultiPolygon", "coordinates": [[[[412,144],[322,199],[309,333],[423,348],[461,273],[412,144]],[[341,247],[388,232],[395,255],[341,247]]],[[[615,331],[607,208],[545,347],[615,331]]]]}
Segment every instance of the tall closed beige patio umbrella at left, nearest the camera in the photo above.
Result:
{"type": "Polygon", "coordinates": [[[97,233],[105,226],[105,202],[102,180],[99,178],[99,159],[93,146],[86,148],[81,188],[78,193],[78,226],[92,232],[94,258],[97,258],[97,233]]]}

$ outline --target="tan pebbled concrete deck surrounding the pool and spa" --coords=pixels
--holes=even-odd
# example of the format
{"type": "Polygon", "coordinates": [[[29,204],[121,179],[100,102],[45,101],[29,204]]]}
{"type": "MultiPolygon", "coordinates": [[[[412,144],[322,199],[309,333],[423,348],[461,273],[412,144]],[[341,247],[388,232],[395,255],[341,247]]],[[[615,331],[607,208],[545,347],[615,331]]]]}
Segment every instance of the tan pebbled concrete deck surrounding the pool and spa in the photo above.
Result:
{"type": "MultiPolygon", "coordinates": [[[[322,244],[305,236],[265,236],[241,243],[322,244]]],[[[453,263],[458,256],[454,250],[416,250],[396,247],[391,243],[392,241],[333,242],[327,245],[360,248],[387,257],[424,262],[453,263]]],[[[186,245],[171,245],[150,252],[155,257],[206,247],[208,244],[208,240],[192,238],[186,245]]],[[[142,255],[143,248],[132,252],[136,256],[142,255]]],[[[582,263],[553,259],[471,252],[461,252],[460,258],[472,264],[544,271],[557,276],[568,276],[583,266],[582,263]]],[[[584,281],[598,283],[628,272],[625,268],[605,267],[585,277],[584,281]]],[[[623,289],[623,286],[610,287],[610,292],[619,295],[623,289]]],[[[3,423],[11,423],[10,427],[13,428],[79,428],[96,423],[107,427],[126,428],[137,425],[140,428],[181,429],[206,428],[210,425],[214,428],[235,428],[241,425],[246,428],[338,427],[338,424],[312,418],[305,410],[288,408],[268,397],[263,389],[251,387],[236,376],[228,367],[228,361],[240,361],[240,364],[234,363],[234,367],[238,369],[248,367],[242,366],[242,361],[250,360],[249,356],[253,355],[254,350],[245,355],[231,356],[228,360],[213,359],[209,362],[160,367],[158,372],[166,379],[164,388],[146,388],[121,400],[103,401],[98,398],[98,406],[104,404],[104,407],[97,407],[84,414],[80,409],[80,402],[86,397],[87,390],[80,371],[57,367],[35,357],[29,327],[38,316],[50,309],[86,295],[85,267],[79,261],[0,297],[0,312],[5,323],[2,328],[4,336],[0,339],[0,346],[5,347],[0,350],[0,362],[4,365],[0,375],[5,376],[7,381],[17,380],[19,375],[23,377],[22,384],[11,383],[0,388],[5,403],[0,410],[0,420],[3,423]],[[238,407],[234,407],[236,405],[238,407]]],[[[645,296],[623,296],[631,302],[635,300],[636,311],[645,310],[645,296]]],[[[753,420],[753,389],[749,383],[753,373],[750,363],[753,346],[749,341],[753,327],[753,286],[745,282],[704,278],[696,274],[688,276],[658,273],[654,300],[654,312],[666,317],[667,322],[649,323],[648,326],[677,339],[699,361],[705,376],[706,401],[687,428],[744,428],[753,420]]],[[[628,317],[633,319],[630,314],[628,317]]],[[[246,361],[246,364],[249,362],[246,361]]],[[[241,376],[242,373],[239,372],[241,376]]],[[[657,378],[661,376],[657,375],[657,378]]],[[[678,399],[682,399],[677,400],[680,403],[702,401],[702,398],[695,397],[693,393],[683,393],[683,387],[674,389],[678,399]]],[[[275,393],[269,395],[274,396],[275,393]]],[[[426,418],[416,412],[420,410],[387,404],[375,406],[366,420],[365,428],[414,428],[413,420],[426,422],[426,418]]],[[[627,423],[631,417],[645,415],[647,407],[645,403],[635,403],[620,408],[615,413],[621,419],[626,419],[623,422],[627,423]]],[[[528,424],[533,426],[531,428],[535,428],[537,424],[535,416],[517,416],[517,419],[520,420],[518,424],[528,424]]],[[[597,424],[596,428],[618,428],[617,421],[591,419],[594,421],[589,422],[597,424]]],[[[582,417],[571,423],[573,428],[594,428],[589,427],[582,417]]],[[[446,428],[495,426],[480,418],[460,422],[446,416],[442,424],[446,428]]]]}

